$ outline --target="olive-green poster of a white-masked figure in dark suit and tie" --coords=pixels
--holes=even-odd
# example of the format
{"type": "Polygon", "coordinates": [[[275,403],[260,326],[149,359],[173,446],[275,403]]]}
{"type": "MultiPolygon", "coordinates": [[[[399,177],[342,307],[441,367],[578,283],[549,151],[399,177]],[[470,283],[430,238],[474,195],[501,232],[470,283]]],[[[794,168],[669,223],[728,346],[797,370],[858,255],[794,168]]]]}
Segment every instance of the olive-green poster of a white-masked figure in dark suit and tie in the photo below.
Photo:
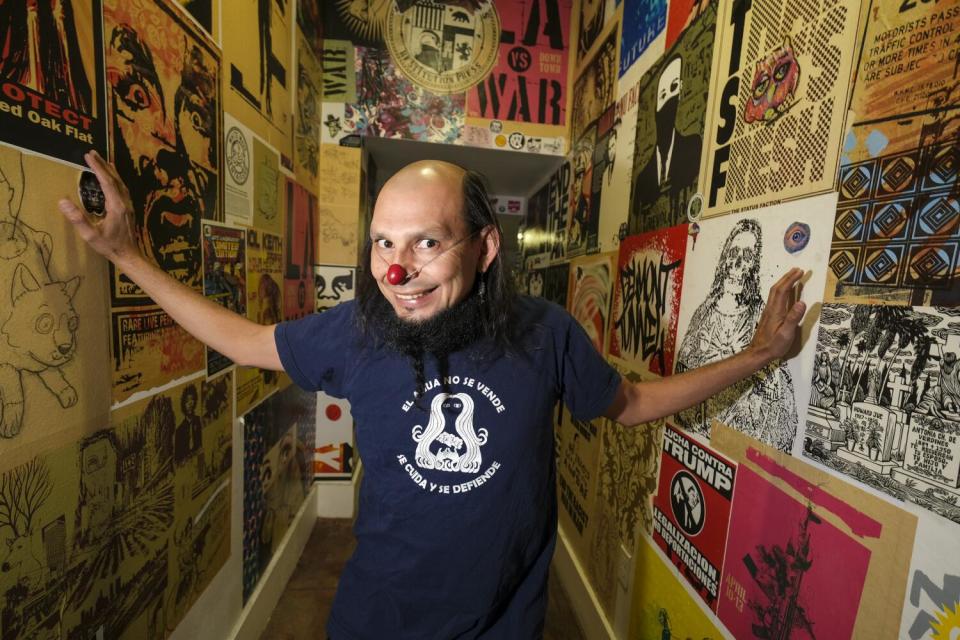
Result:
{"type": "Polygon", "coordinates": [[[628,233],[685,222],[700,188],[716,7],[707,7],[640,79],[628,233]]]}

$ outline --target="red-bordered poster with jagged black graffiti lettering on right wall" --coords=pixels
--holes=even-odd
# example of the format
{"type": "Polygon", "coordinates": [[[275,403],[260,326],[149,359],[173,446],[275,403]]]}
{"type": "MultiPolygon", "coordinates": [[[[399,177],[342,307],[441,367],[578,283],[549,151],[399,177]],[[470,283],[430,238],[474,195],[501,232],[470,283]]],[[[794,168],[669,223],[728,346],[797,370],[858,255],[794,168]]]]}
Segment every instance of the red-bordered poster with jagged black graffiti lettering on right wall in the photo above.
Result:
{"type": "Polygon", "coordinates": [[[620,243],[610,356],[631,370],[673,373],[687,242],[678,225],[620,243]]]}

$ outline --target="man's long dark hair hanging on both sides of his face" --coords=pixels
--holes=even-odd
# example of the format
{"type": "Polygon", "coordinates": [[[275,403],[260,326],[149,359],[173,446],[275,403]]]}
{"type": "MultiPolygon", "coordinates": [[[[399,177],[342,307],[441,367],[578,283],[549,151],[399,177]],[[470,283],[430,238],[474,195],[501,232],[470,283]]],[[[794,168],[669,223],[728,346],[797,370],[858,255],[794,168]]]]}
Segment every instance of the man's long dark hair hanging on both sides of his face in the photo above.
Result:
{"type": "MultiPolygon", "coordinates": [[[[478,273],[469,295],[478,295],[481,283],[484,289],[481,316],[483,331],[487,338],[500,347],[510,347],[514,342],[512,312],[516,291],[513,278],[506,271],[503,260],[503,227],[493,210],[485,178],[475,171],[465,171],[461,184],[463,193],[462,215],[470,235],[479,235],[492,226],[500,238],[500,248],[486,272],[478,273]]],[[[363,246],[363,263],[357,278],[357,318],[360,328],[368,333],[372,327],[376,303],[382,295],[370,268],[373,243],[368,238],[363,246]]]]}

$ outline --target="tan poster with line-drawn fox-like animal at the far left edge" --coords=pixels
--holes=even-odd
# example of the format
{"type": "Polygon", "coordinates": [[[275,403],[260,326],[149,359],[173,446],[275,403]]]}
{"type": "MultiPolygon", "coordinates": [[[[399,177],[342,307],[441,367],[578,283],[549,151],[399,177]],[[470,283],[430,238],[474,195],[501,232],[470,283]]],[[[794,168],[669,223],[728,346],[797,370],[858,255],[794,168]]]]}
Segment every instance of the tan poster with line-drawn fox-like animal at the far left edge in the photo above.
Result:
{"type": "MultiPolygon", "coordinates": [[[[0,147],[0,460],[106,423],[105,261],[57,212],[73,167],[0,147]]],[[[4,465],[6,466],[6,465],[4,465]]]]}

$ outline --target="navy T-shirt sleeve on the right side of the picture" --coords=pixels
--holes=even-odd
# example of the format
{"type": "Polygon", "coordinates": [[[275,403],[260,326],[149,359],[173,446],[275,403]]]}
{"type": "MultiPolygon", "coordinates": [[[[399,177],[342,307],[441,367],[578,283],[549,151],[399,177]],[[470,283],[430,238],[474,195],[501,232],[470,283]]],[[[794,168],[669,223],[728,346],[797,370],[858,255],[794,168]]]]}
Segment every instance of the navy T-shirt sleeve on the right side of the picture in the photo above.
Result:
{"type": "Polygon", "coordinates": [[[620,374],[597,352],[583,327],[569,314],[564,315],[566,330],[559,345],[563,401],[577,420],[593,420],[613,402],[620,374]]]}

